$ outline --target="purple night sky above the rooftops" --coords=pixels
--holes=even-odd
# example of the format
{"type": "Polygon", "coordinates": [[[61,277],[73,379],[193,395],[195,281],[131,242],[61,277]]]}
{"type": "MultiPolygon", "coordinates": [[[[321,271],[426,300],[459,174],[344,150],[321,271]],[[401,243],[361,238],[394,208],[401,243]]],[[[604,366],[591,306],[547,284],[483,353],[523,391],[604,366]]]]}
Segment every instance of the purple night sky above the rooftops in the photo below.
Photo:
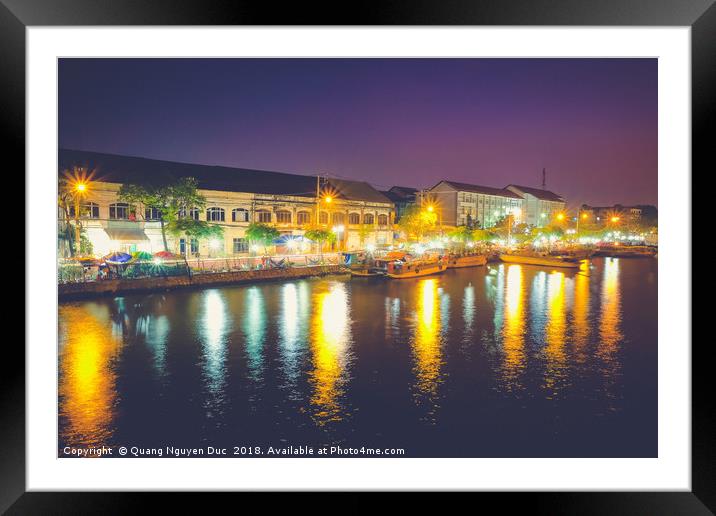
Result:
{"type": "Polygon", "coordinates": [[[59,143],[657,204],[657,60],[61,59],[59,143]]]}

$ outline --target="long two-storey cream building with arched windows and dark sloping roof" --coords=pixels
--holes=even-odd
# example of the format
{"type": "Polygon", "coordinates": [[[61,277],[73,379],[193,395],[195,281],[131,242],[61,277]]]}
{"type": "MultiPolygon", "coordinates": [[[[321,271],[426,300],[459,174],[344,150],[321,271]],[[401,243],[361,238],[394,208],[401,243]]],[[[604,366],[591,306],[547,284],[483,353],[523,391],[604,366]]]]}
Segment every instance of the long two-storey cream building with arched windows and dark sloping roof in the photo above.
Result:
{"type": "MultiPolygon", "coordinates": [[[[59,152],[59,168],[60,173],[76,168],[93,173],[82,197],[80,217],[97,256],[113,251],[156,253],[165,249],[165,238],[171,252],[185,256],[251,254],[257,251],[246,238],[252,222],[270,224],[280,232],[275,245],[278,252],[309,251],[309,244],[296,237],[315,226],[334,231],[335,248],[341,250],[389,245],[393,239],[391,201],[359,181],[65,149],[59,152]],[[221,226],[223,241],[174,237],[166,231],[163,235],[156,210],[118,198],[123,184],[172,184],[183,177],[196,179],[206,199],[205,208],[190,209],[184,216],[221,226]]],[[[58,229],[63,223],[59,219],[58,229]]]]}

